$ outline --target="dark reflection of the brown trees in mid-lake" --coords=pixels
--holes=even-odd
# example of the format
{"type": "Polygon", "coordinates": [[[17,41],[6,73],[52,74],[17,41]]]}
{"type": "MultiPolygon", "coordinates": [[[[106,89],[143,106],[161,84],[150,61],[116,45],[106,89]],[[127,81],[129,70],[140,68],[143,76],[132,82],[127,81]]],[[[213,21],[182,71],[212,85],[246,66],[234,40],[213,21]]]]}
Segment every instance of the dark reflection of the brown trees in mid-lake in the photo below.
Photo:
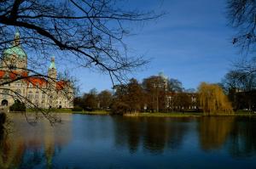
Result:
{"type": "Polygon", "coordinates": [[[115,145],[136,153],[140,146],[150,153],[179,149],[189,129],[189,118],[114,118],[115,145]]]}

